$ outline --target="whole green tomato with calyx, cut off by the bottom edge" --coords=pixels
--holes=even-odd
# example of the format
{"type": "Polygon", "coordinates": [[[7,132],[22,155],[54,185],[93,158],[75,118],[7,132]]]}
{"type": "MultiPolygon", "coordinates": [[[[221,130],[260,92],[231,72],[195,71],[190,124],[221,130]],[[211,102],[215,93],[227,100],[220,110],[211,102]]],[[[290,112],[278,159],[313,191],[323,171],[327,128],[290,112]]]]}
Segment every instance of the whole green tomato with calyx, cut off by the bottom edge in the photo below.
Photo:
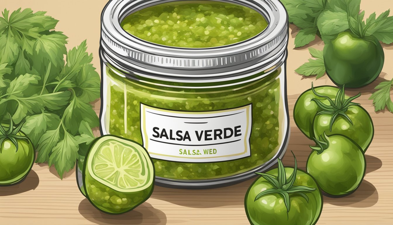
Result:
{"type": "Polygon", "coordinates": [[[252,225],[314,225],[322,211],[322,194],[309,173],[295,166],[257,173],[248,188],[244,206],[252,225]]]}

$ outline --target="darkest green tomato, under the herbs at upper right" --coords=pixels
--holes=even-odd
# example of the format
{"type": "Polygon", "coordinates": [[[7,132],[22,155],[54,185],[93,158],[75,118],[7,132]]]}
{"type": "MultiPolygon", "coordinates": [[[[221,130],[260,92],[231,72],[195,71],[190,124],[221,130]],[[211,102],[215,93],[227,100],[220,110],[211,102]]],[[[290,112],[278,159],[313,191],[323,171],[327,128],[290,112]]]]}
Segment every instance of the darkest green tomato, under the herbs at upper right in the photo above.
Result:
{"type": "Polygon", "coordinates": [[[339,33],[323,49],[326,73],[337,86],[363,87],[373,82],[384,65],[384,50],[375,37],[339,33]]]}

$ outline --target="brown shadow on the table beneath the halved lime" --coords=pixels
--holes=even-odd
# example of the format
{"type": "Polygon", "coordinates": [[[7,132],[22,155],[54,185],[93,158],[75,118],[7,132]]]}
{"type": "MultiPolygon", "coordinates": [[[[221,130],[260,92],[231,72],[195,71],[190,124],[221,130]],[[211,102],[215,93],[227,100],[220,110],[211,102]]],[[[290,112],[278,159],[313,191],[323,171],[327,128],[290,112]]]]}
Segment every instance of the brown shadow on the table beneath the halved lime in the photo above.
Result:
{"type": "Polygon", "coordinates": [[[153,206],[146,202],[142,203],[140,206],[130,212],[119,215],[109,215],[94,208],[94,206],[87,199],[83,199],[81,203],[79,203],[78,210],[84,218],[99,225],[165,225],[167,223],[166,215],[161,210],[153,208],[153,206]]]}

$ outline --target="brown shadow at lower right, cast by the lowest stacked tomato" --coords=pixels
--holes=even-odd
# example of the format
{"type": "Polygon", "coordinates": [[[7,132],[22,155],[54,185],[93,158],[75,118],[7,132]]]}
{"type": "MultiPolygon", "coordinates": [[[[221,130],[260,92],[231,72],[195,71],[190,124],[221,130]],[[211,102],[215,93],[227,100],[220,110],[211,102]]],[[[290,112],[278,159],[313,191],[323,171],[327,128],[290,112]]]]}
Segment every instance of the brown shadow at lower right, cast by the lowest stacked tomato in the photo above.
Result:
{"type": "Polygon", "coordinates": [[[323,203],[328,203],[336,206],[350,206],[355,208],[367,208],[375,205],[378,202],[378,191],[375,186],[363,180],[358,190],[351,195],[342,198],[331,198],[323,196],[323,203]]]}

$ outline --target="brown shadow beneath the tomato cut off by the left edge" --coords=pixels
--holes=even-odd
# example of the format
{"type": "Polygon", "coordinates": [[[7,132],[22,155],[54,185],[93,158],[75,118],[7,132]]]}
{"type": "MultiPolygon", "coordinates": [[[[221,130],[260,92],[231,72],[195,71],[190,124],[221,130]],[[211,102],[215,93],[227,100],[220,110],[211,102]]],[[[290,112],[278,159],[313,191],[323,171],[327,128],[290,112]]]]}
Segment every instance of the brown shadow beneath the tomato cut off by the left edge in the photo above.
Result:
{"type": "Polygon", "coordinates": [[[29,190],[35,190],[37,188],[40,179],[34,170],[30,170],[27,177],[17,184],[11,186],[0,187],[0,196],[16,195],[19,193],[27,192],[29,190]]]}

